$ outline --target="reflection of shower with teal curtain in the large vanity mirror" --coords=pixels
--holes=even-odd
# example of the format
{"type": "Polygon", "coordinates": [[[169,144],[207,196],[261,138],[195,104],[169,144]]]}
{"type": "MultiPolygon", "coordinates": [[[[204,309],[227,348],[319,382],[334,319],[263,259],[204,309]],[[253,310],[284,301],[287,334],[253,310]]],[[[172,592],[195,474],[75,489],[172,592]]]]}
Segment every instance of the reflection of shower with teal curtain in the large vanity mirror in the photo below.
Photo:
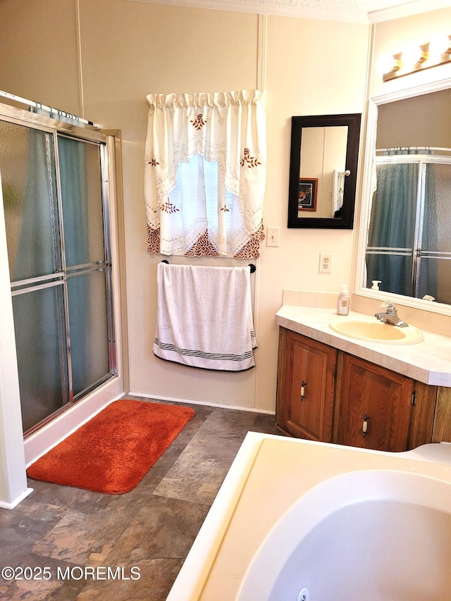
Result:
{"type": "Polygon", "coordinates": [[[451,150],[376,151],[366,287],[451,303],[451,150]]]}

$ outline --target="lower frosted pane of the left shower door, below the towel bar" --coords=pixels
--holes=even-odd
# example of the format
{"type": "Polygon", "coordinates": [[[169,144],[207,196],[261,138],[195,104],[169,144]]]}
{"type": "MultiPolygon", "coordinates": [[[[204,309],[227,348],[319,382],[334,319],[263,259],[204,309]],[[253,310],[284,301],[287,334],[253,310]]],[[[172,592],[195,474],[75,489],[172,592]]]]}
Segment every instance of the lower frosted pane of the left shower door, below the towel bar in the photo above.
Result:
{"type": "Polygon", "coordinates": [[[23,430],[69,400],[62,286],[13,296],[23,430]]]}

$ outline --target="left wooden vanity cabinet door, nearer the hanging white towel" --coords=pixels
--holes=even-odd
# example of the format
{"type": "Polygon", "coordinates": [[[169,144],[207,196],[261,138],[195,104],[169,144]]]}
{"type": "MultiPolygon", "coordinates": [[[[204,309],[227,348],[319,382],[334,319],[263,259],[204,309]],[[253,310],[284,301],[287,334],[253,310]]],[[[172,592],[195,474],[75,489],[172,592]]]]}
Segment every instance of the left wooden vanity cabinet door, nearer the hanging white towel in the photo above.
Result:
{"type": "Polygon", "coordinates": [[[336,350],[280,328],[276,421],[297,436],[330,442],[336,350]]]}

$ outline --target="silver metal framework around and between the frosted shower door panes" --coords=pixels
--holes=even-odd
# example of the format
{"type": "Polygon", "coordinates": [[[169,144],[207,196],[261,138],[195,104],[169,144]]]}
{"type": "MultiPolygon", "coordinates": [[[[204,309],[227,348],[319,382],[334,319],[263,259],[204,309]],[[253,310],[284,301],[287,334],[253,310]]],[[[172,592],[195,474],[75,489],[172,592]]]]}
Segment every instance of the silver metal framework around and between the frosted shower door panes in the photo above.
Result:
{"type": "MultiPolygon", "coordinates": [[[[80,128],[73,123],[68,123],[63,120],[49,118],[48,116],[42,116],[40,114],[23,111],[21,109],[15,109],[12,106],[0,105],[0,120],[7,121],[8,123],[14,123],[16,125],[33,128],[51,134],[54,147],[54,161],[55,161],[55,175],[56,175],[56,206],[58,211],[59,221],[59,239],[60,239],[60,252],[61,252],[61,271],[51,273],[48,275],[39,275],[36,278],[27,278],[26,280],[18,280],[11,282],[11,295],[16,296],[25,294],[25,292],[32,292],[42,290],[47,287],[63,286],[63,304],[64,304],[64,318],[65,318],[65,332],[66,332],[66,357],[67,357],[67,390],[68,390],[68,402],[63,404],[62,407],[52,412],[47,418],[39,421],[35,426],[29,428],[24,432],[24,438],[36,430],[44,426],[45,423],[52,421],[56,416],[62,414],[64,411],[69,409],[75,402],[85,397],[89,392],[92,392],[95,388],[98,388],[101,384],[118,376],[117,371],[117,354],[116,354],[116,335],[115,335],[115,318],[114,318],[114,304],[113,304],[113,285],[112,285],[112,258],[111,258],[111,230],[110,230],[110,195],[109,195],[109,144],[108,135],[104,132],[97,130],[90,130],[87,128],[80,128]],[[104,261],[99,261],[97,264],[86,264],[84,266],[85,271],[77,271],[73,274],[68,274],[66,269],[66,253],[64,246],[64,231],[63,231],[63,209],[62,209],[62,194],[61,194],[61,177],[58,157],[58,137],[68,137],[72,140],[78,140],[85,143],[95,144],[99,147],[100,156],[100,171],[101,171],[101,199],[102,199],[102,218],[104,228],[104,261]],[[73,381],[72,381],[72,369],[71,369],[71,354],[70,354],[70,327],[69,327],[69,316],[68,316],[68,290],[67,290],[67,279],[72,275],[82,275],[85,273],[92,273],[92,271],[105,271],[105,283],[106,283],[106,330],[108,335],[108,361],[109,361],[109,372],[96,382],[89,385],[84,390],[78,392],[77,395],[73,395],[73,381]]],[[[2,207],[3,210],[3,207],[2,207]]],[[[70,270],[69,270],[70,271],[70,270]]],[[[63,384],[63,383],[62,383],[63,384]]]]}

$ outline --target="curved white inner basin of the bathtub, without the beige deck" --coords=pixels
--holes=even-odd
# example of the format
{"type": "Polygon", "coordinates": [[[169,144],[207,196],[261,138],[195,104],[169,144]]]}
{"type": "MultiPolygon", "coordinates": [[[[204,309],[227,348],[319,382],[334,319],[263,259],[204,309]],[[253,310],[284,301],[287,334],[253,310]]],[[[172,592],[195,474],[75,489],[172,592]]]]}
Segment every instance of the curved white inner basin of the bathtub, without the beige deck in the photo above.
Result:
{"type": "Polygon", "coordinates": [[[305,601],[450,600],[450,483],[362,471],[316,486],[264,540],[237,598],[300,591],[305,601]]]}

